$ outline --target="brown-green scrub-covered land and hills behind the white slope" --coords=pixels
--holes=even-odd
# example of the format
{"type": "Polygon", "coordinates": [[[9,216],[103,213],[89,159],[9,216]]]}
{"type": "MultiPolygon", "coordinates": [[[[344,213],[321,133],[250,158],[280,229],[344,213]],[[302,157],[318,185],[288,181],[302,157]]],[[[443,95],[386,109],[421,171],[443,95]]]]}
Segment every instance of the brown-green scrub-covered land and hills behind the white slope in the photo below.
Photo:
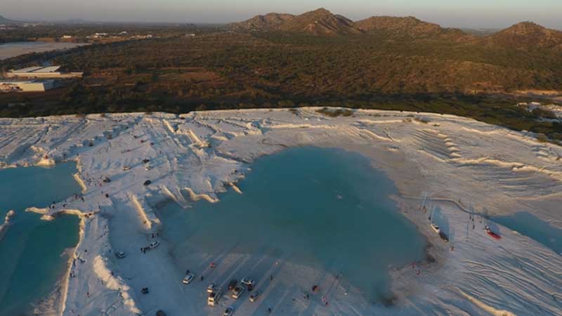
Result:
{"type": "Polygon", "coordinates": [[[243,32],[231,25],[196,37],[171,34],[5,60],[5,70],[51,60],[86,75],[47,93],[0,95],[0,115],[343,105],[458,114],[562,140],[561,124],[539,121],[515,98],[499,98],[516,90],[562,91],[559,32],[516,25],[474,37],[385,17],[355,32],[350,27],[359,22],[311,14],[327,21],[313,32],[301,27],[310,25],[302,17],[265,15],[243,32]],[[287,21],[289,31],[269,26],[287,21]],[[548,40],[537,39],[541,34],[548,40]],[[509,44],[514,37],[517,46],[509,44]]]}

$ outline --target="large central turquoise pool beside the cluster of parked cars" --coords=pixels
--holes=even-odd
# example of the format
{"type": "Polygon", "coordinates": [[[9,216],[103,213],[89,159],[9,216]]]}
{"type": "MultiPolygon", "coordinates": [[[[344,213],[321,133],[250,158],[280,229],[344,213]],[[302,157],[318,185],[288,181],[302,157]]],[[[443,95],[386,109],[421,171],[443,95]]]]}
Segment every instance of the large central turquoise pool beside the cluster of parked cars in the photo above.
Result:
{"type": "Polygon", "coordinates": [[[284,150],[258,159],[238,186],[242,195],[230,190],[216,204],[160,209],[163,237],[178,261],[192,266],[192,254],[273,254],[341,275],[379,301],[388,296],[389,265],[425,258],[426,240],[389,198],[397,193],[393,182],[360,154],[284,150]]]}

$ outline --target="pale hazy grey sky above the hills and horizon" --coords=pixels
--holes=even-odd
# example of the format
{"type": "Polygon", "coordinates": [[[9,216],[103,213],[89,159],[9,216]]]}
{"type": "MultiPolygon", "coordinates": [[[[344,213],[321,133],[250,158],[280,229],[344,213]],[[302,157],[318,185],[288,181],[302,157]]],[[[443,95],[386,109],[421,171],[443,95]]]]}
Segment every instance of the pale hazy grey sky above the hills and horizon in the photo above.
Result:
{"type": "Polygon", "coordinates": [[[352,20],[414,15],[447,27],[507,27],[532,20],[562,29],[562,0],[0,0],[0,15],[20,20],[234,22],[268,12],[324,7],[352,20]]]}

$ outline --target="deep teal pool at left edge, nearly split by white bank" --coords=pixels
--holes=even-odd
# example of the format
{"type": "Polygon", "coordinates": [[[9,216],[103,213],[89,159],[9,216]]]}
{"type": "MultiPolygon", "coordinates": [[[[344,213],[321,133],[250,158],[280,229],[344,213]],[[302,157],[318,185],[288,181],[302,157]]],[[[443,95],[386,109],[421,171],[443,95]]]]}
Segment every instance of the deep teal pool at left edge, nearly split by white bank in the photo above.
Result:
{"type": "Polygon", "coordinates": [[[63,215],[41,220],[30,206],[46,207],[79,193],[72,178],[76,166],[27,167],[0,170],[0,216],[15,211],[0,239],[0,316],[25,315],[32,305],[46,298],[65,272],[65,249],[76,246],[79,218],[63,215]]]}

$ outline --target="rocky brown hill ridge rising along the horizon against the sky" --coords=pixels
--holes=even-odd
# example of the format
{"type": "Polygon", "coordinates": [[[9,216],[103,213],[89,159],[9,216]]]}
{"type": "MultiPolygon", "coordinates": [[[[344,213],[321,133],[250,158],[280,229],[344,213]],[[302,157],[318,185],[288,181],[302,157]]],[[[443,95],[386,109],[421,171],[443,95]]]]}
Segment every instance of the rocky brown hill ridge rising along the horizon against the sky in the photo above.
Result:
{"type": "Polygon", "coordinates": [[[369,34],[383,32],[419,38],[440,38],[454,41],[480,41],[483,44],[508,47],[562,48],[562,32],[547,29],[533,22],[521,22],[477,39],[456,28],[441,27],[436,23],[408,17],[372,16],[353,22],[343,15],[334,15],[325,8],[301,15],[268,13],[230,24],[232,29],[253,32],[299,32],[316,36],[369,34]]]}

